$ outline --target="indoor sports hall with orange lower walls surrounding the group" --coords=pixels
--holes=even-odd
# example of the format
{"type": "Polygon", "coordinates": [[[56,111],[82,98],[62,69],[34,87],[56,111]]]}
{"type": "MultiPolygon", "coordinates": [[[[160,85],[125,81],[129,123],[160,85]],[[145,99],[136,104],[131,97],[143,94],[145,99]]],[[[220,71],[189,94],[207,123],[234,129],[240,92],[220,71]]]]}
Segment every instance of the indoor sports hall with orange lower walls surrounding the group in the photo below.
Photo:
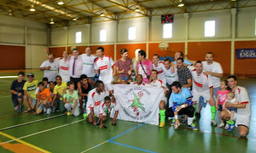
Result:
{"type": "Polygon", "coordinates": [[[255,0],[0,0],[0,152],[256,152],[255,10],[255,0]],[[208,103],[194,120],[196,131],[188,125],[174,129],[169,117],[160,128],[122,118],[110,124],[106,112],[105,128],[100,128],[89,124],[83,112],[25,113],[24,101],[21,112],[13,109],[10,89],[20,71],[26,81],[31,73],[41,81],[45,70],[39,67],[51,54],[71,56],[76,48],[80,55],[87,46],[94,55],[102,46],[114,62],[122,58],[122,48],[129,58],[145,50],[150,61],[157,54],[160,61],[174,62],[181,52],[193,64],[213,53],[223,70],[220,79],[235,75],[237,85],[247,89],[249,133],[241,137],[237,127],[231,132],[219,128],[220,111],[218,124],[211,125],[208,103]]]}

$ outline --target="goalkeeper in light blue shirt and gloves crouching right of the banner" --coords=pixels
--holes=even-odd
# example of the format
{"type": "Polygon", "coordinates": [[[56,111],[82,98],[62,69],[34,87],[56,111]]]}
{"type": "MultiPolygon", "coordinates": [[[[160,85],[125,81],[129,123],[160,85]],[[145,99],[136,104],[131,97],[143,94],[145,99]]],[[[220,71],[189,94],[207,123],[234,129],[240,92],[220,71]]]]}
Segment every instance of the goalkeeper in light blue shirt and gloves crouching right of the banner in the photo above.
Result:
{"type": "Polygon", "coordinates": [[[171,88],[172,94],[169,101],[173,103],[173,106],[166,110],[165,115],[167,117],[174,116],[174,129],[178,129],[179,127],[179,115],[188,115],[188,128],[198,130],[193,123],[195,107],[193,107],[193,96],[190,90],[188,88],[181,88],[181,84],[178,81],[174,81],[171,84],[171,88]]]}

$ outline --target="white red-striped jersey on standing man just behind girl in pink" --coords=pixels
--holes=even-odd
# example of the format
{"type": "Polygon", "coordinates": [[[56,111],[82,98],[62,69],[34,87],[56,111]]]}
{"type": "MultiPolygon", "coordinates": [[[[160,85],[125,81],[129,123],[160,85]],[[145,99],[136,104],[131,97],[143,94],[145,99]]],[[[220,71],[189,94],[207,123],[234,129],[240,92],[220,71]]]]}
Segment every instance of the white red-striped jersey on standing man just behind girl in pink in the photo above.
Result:
{"type": "Polygon", "coordinates": [[[209,90],[209,88],[213,88],[211,75],[204,75],[203,72],[198,75],[196,69],[192,71],[191,75],[193,79],[192,92],[203,92],[209,90]]]}

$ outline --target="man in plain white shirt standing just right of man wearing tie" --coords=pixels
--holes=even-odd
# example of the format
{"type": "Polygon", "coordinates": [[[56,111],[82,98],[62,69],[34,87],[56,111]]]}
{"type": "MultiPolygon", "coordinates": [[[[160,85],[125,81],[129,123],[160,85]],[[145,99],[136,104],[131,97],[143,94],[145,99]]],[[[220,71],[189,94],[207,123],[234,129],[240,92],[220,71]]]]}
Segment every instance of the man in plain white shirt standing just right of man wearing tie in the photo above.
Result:
{"type": "Polygon", "coordinates": [[[91,79],[94,81],[94,60],[97,58],[97,56],[94,56],[92,53],[92,48],[90,46],[87,46],[85,48],[85,54],[80,55],[83,60],[83,74],[85,74],[88,79],[91,79]]]}

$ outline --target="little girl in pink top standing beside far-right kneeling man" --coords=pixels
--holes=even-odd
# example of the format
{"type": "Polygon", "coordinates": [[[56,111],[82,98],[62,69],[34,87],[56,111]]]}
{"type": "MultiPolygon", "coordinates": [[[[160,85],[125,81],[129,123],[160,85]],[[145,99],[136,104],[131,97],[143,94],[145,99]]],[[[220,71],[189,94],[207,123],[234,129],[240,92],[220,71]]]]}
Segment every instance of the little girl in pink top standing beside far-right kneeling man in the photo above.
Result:
{"type": "MultiPolygon", "coordinates": [[[[216,98],[216,109],[218,111],[222,111],[222,105],[225,103],[227,98],[227,93],[230,92],[230,89],[228,87],[228,81],[223,80],[220,82],[220,90],[217,91],[217,98],[216,98]]],[[[221,123],[218,125],[219,128],[223,127],[224,121],[221,120],[221,123]]],[[[227,124],[228,125],[228,124],[227,124]]],[[[225,127],[226,128],[226,127],[225,127]]]]}

